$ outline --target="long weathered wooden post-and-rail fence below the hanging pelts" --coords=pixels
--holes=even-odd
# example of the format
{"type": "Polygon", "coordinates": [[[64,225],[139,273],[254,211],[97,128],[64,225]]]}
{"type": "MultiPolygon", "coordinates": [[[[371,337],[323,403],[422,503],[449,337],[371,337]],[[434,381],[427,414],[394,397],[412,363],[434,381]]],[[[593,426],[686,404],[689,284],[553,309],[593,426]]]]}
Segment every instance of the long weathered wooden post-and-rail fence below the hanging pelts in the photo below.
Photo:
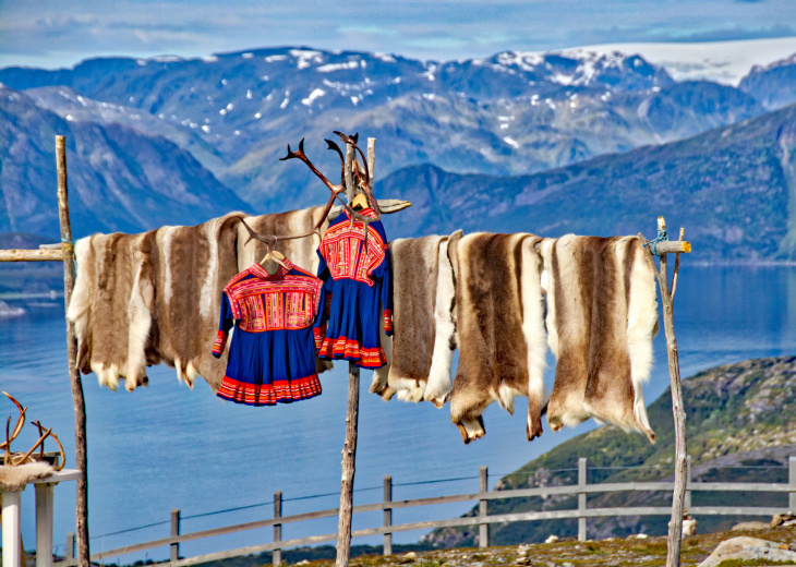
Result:
{"type": "MultiPolygon", "coordinates": [[[[788,459],[788,482],[787,483],[750,483],[750,482],[692,482],[690,476],[690,459],[688,461],[688,484],[686,493],[686,507],[694,516],[773,516],[775,514],[784,514],[786,511],[796,510],[796,457],[788,459]],[[691,493],[694,492],[768,492],[768,493],[787,493],[788,507],[755,507],[755,506],[690,506],[691,493]]],[[[578,461],[578,482],[576,484],[564,486],[545,486],[538,488],[517,488],[508,491],[487,490],[487,469],[482,467],[479,475],[479,492],[467,494],[454,494],[449,496],[432,496],[424,498],[413,498],[403,500],[393,499],[391,476],[384,479],[384,502],[363,504],[353,507],[354,514],[384,511],[384,524],[375,528],[363,530],[354,530],[352,538],[364,538],[372,535],[384,535],[384,554],[391,555],[393,540],[391,535],[398,532],[427,530],[436,528],[479,526],[479,544],[482,547],[489,546],[489,526],[492,523],[506,523],[515,521],[534,521],[534,520],[554,520],[554,519],[578,519],[578,539],[584,541],[587,539],[587,518],[603,518],[615,516],[670,516],[672,508],[670,506],[637,506],[622,508],[588,508],[587,495],[595,493],[610,492],[671,492],[674,491],[674,482],[615,482],[615,483],[587,483],[587,459],[580,458],[578,461]],[[543,510],[543,511],[523,511],[515,514],[489,515],[489,500],[522,498],[530,496],[552,496],[552,495],[577,495],[578,507],[565,510],[543,510]],[[478,516],[429,520],[409,523],[393,523],[393,510],[397,508],[409,508],[417,506],[433,506],[439,504],[455,504],[461,502],[478,502],[478,516]]],[[[255,553],[274,552],[274,565],[281,563],[281,551],[289,547],[298,547],[301,545],[311,545],[337,540],[337,533],[326,533],[319,535],[310,535],[293,540],[281,539],[281,527],[285,523],[293,523],[318,518],[328,518],[338,515],[338,508],[328,508],[303,514],[294,514],[291,516],[281,515],[282,497],[277,492],[274,495],[274,518],[225,526],[222,528],[214,528],[209,530],[201,530],[190,533],[180,533],[180,510],[171,512],[171,535],[158,540],[146,541],[142,543],[125,545],[114,550],[108,550],[100,553],[92,554],[93,562],[101,562],[109,557],[118,557],[130,553],[152,550],[155,547],[169,547],[169,560],[155,564],[157,567],[184,567],[201,563],[238,557],[242,555],[251,555],[255,553]],[[244,530],[254,530],[258,528],[274,528],[274,541],[248,547],[239,547],[194,557],[180,558],[180,543],[236,533],[244,530]]],[[[168,522],[164,522],[168,523],[168,522]]],[[[67,539],[65,557],[61,562],[55,563],[55,567],[72,567],[77,565],[74,556],[74,534],[70,533],[67,539]]]]}

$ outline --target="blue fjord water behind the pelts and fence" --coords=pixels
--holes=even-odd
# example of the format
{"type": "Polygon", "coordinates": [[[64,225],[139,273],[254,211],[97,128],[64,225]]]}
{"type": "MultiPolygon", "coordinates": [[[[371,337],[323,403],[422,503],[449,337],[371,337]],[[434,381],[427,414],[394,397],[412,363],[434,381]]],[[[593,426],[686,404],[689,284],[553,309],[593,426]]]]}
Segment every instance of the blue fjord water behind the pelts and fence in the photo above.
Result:
{"type": "MultiPolygon", "coordinates": [[[[74,466],[74,417],[67,374],[62,304],[26,305],[22,317],[0,321],[0,389],[29,406],[28,421],[52,426],[74,466]]],[[[675,327],[682,375],[749,358],[796,351],[796,267],[684,267],[675,300],[675,327]]],[[[655,339],[655,365],[644,390],[648,403],[668,386],[663,330],[655,339]]],[[[554,361],[548,357],[551,366],[554,361]]],[[[250,408],[221,401],[200,381],[178,384],[172,369],[150,369],[148,388],[113,393],[83,377],[87,412],[89,531],[92,551],[168,535],[172,508],[180,508],[183,532],[269,518],[275,491],[285,498],[284,515],[339,503],[340,450],[345,437],[347,363],[322,375],[322,396],[290,406],[250,408]],[[326,496],[316,496],[326,495],[326,496]],[[316,496],[307,498],[309,496],[316,496]],[[208,514],[230,508],[244,509],[208,514]],[[191,518],[196,516],[195,518],[191,518]],[[123,531],[144,524],[150,528],[123,531]],[[123,531],[119,534],[112,534],[123,531]]],[[[552,385],[553,371],[547,373],[552,385]]],[[[465,446],[447,408],[430,403],[384,402],[367,393],[371,372],[361,379],[355,504],[379,500],[386,474],[394,498],[475,492],[479,467],[487,466],[490,486],[553,446],[595,426],[524,438],[523,398],[514,417],[493,405],[484,414],[486,436],[465,446]],[[461,479],[445,483],[415,482],[461,479]]],[[[0,418],[13,406],[0,400],[0,418]]],[[[546,424],[545,424],[546,426],[546,424]]],[[[27,447],[34,429],[25,427],[15,448],[27,447]]],[[[49,449],[49,447],[48,447],[49,449]]],[[[74,483],[56,487],[55,540],[63,551],[74,531],[74,483]]],[[[23,494],[23,539],[35,546],[33,490],[23,494]]],[[[470,504],[434,509],[399,509],[394,523],[454,517],[470,504]]],[[[381,512],[354,517],[354,529],[373,527],[381,512]]],[[[282,538],[331,533],[336,518],[286,524],[282,538]]],[[[417,541],[420,532],[396,542],[417,541]]],[[[256,545],[270,530],[252,530],[183,544],[181,554],[256,545]]],[[[379,538],[354,543],[381,543],[379,538]]],[[[162,559],[167,548],[108,560],[162,559]]]]}

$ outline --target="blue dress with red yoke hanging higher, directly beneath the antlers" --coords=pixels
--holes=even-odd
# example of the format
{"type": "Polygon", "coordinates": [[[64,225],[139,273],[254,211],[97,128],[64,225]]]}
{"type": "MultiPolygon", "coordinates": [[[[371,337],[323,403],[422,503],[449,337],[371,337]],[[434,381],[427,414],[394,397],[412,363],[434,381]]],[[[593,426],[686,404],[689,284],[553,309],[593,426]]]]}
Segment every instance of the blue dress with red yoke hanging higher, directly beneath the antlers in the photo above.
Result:
{"type": "MultiPolygon", "coordinates": [[[[373,209],[360,213],[375,217],[373,209]]],[[[393,334],[393,288],[389,276],[387,236],[381,221],[367,227],[364,250],[364,224],[351,222],[347,212],[329,224],[318,249],[318,277],[324,280],[327,311],[315,335],[321,342],[318,357],[355,361],[365,369],[386,364],[382,350],[379,318],[393,334]],[[384,314],[379,307],[384,305],[384,314]]]]}

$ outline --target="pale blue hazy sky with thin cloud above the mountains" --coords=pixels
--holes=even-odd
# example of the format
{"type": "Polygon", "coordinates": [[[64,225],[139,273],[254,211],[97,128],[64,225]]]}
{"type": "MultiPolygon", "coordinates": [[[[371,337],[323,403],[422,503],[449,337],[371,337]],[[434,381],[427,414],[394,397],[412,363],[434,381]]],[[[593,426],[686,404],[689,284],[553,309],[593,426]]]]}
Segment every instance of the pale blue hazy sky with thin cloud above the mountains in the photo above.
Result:
{"type": "Polygon", "coordinates": [[[307,46],[463,59],[796,36],[796,0],[0,0],[0,68],[307,46]]]}

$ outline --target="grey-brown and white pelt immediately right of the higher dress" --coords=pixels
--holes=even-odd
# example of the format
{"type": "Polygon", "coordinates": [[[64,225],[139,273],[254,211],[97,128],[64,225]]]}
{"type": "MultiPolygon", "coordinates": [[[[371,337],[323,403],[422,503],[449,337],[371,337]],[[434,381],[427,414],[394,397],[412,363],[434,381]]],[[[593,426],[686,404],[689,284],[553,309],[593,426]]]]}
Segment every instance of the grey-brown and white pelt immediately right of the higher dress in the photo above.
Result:
{"type": "Polygon", "coordinates": [[[453,389],[455,349],[453,267],[448,237],[389,243],[393,278],[391,338],[382,335],[388,364],[373,374],[371,391],[442,408],[453,389]]]}

